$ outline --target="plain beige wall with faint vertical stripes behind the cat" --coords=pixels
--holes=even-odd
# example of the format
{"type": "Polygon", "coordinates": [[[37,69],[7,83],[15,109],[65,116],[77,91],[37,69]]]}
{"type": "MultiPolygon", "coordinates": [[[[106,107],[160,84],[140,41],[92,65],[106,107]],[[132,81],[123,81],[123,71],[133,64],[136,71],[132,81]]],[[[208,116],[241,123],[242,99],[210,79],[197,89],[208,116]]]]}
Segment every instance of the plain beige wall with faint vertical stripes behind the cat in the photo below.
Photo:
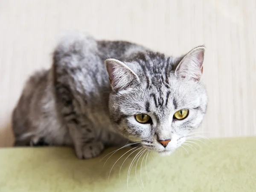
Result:
{"type": "Polygon", "coordinates": [[[0,0],[0,146],[24,81],[48,68],[58,37],[86,31],[169,55],[205,44],[208,137],[256,135],[255,0],[0,0]]]}

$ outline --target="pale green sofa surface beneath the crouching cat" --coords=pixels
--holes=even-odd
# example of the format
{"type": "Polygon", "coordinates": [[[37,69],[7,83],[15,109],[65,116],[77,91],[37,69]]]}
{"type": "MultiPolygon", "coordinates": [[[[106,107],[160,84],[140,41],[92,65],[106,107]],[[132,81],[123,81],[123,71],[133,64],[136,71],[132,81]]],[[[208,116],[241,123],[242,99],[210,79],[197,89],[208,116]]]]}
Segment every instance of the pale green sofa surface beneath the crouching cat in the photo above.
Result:
{"type": "Polygon", "coordinates": [[[171,156],[150,154],[147,166],[143,154],[131,169],[128,185],[136,152],[123,165],[131,151],[119,157],[131,148],[103,158],[114,150],[109,148],[90,160],[77,159],[65,147],[1,148],[0,192],[256,192],[256,137],[204,142],[171,156]]]}

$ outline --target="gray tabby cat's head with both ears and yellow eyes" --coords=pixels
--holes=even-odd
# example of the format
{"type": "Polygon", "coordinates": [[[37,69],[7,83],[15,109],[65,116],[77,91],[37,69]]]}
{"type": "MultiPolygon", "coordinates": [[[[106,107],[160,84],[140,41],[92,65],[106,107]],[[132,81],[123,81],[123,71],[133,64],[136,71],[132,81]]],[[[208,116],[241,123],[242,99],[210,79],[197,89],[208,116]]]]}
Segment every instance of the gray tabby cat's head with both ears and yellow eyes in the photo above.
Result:
{"type": "Polygon", "coordinates": [[[117,131],[144,148],[171,154],[197,128],[207,108],[201,82],[204,47],[179,58],[139,52],[107,59],[109,109],[117,131]]]}

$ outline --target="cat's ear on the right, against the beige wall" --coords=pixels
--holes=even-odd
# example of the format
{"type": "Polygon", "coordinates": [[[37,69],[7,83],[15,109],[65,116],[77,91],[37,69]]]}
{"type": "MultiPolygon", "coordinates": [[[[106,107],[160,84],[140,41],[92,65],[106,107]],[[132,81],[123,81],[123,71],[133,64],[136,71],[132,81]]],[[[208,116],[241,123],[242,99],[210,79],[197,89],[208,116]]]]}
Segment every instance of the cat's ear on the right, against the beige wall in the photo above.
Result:
{"type": "Polygon", "coordinates": [[[175,75],[199,81],[203,74],[204,51],[204,46],[189,51],[177,65],[175,75]]]}

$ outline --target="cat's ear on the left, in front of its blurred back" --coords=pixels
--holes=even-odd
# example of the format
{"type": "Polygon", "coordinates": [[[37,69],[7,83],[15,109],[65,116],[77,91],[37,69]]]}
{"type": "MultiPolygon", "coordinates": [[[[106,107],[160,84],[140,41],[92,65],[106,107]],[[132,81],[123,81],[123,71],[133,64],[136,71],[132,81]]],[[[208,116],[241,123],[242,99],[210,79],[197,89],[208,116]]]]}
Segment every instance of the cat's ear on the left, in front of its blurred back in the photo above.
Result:
{"type": "Polygon", "coordinates": [[[113,91],[125,89],[139,82],[139,77],[126,64],[117,59],[106,59],[105,65],[113,91]]]}

